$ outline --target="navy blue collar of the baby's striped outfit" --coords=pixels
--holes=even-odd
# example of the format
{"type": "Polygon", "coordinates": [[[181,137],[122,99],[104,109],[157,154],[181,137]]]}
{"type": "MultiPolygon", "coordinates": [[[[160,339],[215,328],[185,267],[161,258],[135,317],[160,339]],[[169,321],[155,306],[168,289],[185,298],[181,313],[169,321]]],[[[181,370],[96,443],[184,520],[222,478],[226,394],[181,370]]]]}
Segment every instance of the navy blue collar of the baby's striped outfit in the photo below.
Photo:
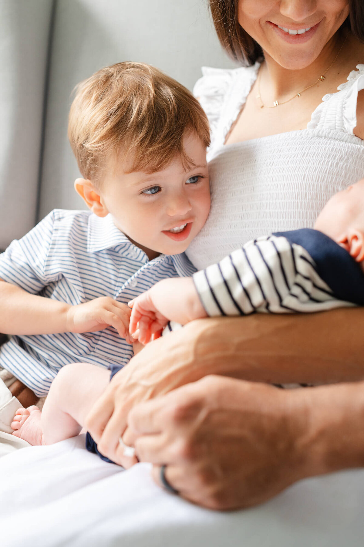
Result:
{"type": "Polygon", "coordinates": [[[319,276],[336,298],[364,305],[364,274],[360,264],[331,237],[310,228],[273,235],[286,237],[291,243],[306,249],[316,264],[319,276]]]}

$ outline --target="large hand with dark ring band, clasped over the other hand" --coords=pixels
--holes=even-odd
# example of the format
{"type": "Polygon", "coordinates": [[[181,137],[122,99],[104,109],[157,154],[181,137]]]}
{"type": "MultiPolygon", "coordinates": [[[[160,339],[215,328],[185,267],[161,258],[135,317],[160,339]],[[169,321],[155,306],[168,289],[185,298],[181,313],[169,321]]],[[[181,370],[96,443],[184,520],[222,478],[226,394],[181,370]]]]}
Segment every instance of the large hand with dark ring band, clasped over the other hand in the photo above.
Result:
{"type": "Polygon", "coordinates": [[[135,406],[123,440],[154,465],[160,486],[166,465],[181,497],[211,509],[249,507],[306,473],[297,450],[306,408],[296,399],[261,383],[207,376],[135,406]]]}

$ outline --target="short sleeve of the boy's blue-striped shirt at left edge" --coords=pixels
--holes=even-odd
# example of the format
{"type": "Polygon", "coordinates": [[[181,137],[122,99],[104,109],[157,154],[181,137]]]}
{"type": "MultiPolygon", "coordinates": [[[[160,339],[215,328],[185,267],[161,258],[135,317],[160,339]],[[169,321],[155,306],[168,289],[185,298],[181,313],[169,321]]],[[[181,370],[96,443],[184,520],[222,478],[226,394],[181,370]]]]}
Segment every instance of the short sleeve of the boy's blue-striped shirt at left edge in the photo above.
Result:
{"type": "Polygon", "coordinates": [[[37,294],[50,283],[46,262],[54,233],[54,211],[0,255],[0,278],[37,294]]]}

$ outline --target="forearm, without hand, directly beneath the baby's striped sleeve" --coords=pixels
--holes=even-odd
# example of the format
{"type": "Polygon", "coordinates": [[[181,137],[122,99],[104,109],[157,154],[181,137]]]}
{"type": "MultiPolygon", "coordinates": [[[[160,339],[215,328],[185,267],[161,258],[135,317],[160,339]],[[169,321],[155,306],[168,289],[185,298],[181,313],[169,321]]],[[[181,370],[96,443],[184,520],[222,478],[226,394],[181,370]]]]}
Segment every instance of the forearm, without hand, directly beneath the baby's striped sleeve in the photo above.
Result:
{"type": "Polygon", "coordinates": [[[364,309],[195,321],[199,371],[269,383],[364,379],[364,309]]]}

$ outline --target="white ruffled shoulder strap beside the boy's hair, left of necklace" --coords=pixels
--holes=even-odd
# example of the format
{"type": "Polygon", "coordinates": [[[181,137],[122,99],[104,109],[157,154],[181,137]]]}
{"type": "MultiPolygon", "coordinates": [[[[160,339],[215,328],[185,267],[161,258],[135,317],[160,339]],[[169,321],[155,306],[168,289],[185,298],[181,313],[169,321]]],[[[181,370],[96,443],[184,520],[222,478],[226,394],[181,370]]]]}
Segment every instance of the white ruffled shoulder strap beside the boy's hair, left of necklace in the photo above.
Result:
{"type": "Polygon", "coordinates": [[[197,80],[193,95],[198,98],[209,120],[210,149],[217,141],[224,141],[255,82],[259,66],[260,63],[239,68],[202,67],[202,78],[197,80]]]}

